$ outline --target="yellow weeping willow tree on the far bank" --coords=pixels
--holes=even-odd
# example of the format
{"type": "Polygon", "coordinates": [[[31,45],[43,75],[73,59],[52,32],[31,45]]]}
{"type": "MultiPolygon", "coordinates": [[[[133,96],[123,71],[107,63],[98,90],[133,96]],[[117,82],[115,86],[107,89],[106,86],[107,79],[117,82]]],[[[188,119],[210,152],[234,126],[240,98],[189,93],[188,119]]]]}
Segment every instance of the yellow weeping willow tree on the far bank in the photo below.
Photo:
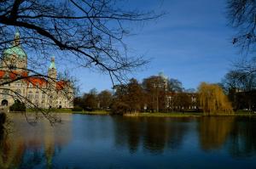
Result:
{"type": "Polygon", "coordinates": [[[201,109],[209,115],[233,113],[232,106],[223,89],[217,84],[202,82],[198,88],[201,109]]]}

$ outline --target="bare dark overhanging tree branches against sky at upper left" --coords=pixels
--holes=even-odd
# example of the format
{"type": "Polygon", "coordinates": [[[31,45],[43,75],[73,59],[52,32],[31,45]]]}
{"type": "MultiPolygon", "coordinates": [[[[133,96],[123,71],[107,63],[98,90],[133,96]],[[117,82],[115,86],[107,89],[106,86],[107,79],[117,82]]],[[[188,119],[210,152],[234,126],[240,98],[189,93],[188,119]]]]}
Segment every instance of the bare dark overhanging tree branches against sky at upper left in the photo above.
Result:
{"type": "MultiPolygon", "coordinates": [[[[30,76],[48,78],[38,70],[54,53],[68,64],[108,74],[114,84],[148,62],[126,53],[123,38],[129,34],[128,25],[160,15],[125,10],[115,0],[0,0],[0,53],[9,48],[18,29],[20,45],[32,54],[27,58],[30,76]]],[[[27,76],[4,83],[23,78],[27,76]]]]}

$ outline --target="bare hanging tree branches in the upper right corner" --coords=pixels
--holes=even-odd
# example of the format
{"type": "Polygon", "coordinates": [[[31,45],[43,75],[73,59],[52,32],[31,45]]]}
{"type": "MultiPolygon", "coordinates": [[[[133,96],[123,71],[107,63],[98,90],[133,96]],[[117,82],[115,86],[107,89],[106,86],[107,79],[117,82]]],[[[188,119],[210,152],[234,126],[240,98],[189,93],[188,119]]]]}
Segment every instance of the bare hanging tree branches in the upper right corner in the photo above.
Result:
{"type": "Polygon", "coordinates": [[[228,0],[227,11],[230,25],[237,31],[233,44],[241,48],[241,54],[245,54],[236,61],[234,67],[236,71],[242,72],[240,79],[245,76],[248,79],[256,72],[256,1],[228,0]]]}

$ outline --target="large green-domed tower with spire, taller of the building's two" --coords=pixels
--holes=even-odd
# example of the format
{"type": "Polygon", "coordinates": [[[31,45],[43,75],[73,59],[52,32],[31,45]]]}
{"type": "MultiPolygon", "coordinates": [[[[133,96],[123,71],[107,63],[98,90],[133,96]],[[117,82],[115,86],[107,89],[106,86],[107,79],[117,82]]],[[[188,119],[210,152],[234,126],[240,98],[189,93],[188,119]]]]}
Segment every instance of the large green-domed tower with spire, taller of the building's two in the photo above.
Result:
{"type": "Polygon", "coordinates": [[[13,44],[3,51],[3,70],[24,72],[27,68],[27,56],[20,44],[20,33],[16,31],[13,44]]]}

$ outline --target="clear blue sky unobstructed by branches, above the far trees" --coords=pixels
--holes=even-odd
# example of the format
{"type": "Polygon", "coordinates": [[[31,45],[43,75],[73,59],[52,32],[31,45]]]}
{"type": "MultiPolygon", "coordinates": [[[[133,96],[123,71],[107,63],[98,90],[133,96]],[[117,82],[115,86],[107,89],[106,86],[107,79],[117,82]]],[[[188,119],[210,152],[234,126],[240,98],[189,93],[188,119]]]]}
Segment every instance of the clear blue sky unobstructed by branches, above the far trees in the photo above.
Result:
{"type": "MultiPolygon", "coordinates": [[[[125,1],[126,2],[126,1],[125,1]]],[[[220,82],[240,57],[231,43],[235,31],[225,18],[225,0],[131,0],[127,8],[164,11],[159,20],[130,25],[132,35],[125,37],[128,54],[143,55],[151,62],[131,77],[143,78],[163,71],[183,82],[185,88],[196,88],[200,82],[220,82]]],[[[109,76],[92,70],[73,70],[82,93],[96,87],[110,89],[109,76]]]]}

